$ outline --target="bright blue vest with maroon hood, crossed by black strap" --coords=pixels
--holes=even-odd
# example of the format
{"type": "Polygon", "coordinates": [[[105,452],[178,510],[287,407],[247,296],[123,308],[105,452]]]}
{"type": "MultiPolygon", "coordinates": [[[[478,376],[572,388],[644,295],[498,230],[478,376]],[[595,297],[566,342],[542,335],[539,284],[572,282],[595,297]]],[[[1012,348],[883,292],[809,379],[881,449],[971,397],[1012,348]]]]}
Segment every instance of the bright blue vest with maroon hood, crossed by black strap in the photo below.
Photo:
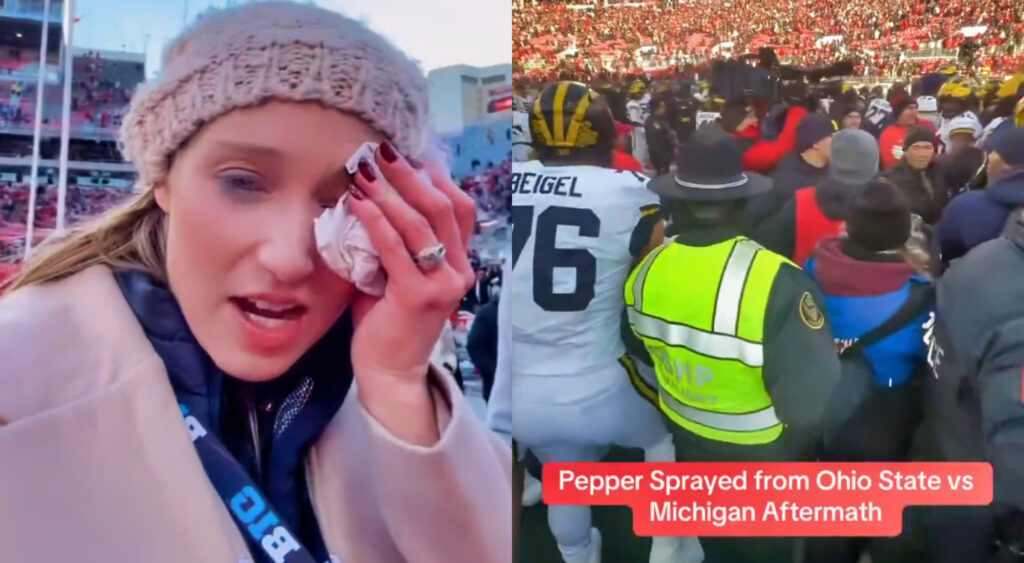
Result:
{"type": "MultiPolygon", "coordinates": [[[[885,322],[911,292],[928,287],[927,279],[904,262],[852,258],[843,253],[841,241],[823,241],[807,263],[807,273],[825,296],[833,337],[840,349],[885,322]]],[[[929,312],[864,350],[874,370],[876,385],[901,386],[924,369],[927,348],[923,326],[929,312]]]]}

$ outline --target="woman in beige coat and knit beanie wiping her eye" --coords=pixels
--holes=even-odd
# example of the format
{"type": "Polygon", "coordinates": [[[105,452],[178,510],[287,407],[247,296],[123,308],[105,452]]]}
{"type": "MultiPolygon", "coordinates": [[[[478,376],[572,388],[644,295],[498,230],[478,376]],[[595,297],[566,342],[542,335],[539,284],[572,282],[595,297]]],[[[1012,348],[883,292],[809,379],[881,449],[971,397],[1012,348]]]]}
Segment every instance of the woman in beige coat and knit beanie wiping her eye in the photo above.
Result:
{"type": "Polygon", "coordinates": [[[0,301],[2,558],[509,561],[509,448],[429,365],[473,209],[428,138],[420,70],[348,18],[186,30],[124,121],[138,194],[0,301]],[[379,298],[316,255],[342,193],[379,298]]]}

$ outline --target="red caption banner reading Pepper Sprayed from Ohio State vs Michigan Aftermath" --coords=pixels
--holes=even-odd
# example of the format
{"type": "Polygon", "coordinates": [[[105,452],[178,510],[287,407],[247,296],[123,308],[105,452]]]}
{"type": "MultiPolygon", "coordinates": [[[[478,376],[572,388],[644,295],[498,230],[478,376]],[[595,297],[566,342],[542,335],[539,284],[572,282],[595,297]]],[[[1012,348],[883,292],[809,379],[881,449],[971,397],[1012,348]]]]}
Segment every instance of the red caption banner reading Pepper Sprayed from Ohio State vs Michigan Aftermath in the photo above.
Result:
{"type": "Polygon", "coordinates": [[[899,535],[908,505],[988,505],[987,463],[544,466],[548,505],[633,509],[637,535],[899,535]]]}

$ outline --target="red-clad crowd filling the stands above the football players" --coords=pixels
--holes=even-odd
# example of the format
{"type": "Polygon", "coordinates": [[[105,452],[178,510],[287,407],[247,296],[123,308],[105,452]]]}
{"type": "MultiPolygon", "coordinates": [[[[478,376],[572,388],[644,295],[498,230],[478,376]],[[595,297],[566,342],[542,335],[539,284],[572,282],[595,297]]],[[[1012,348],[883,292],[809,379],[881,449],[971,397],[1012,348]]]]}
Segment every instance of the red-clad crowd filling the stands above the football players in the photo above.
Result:
{"type": "Polygon", "coordinates": [[[1024,3],[1016,0],[672,0],[575,9],[532,2],[513,11],[514,71],[551,80],[635,74],[774,47],[783,62],[856,62],[857,76],[924,74],[973,43],[973,67],[1010,74],[1024,62],[1024,3]],[[970,38],[964,28],[984,27],[970,38]],[[719,46],[731,43],[728,50],[719,46]]]}

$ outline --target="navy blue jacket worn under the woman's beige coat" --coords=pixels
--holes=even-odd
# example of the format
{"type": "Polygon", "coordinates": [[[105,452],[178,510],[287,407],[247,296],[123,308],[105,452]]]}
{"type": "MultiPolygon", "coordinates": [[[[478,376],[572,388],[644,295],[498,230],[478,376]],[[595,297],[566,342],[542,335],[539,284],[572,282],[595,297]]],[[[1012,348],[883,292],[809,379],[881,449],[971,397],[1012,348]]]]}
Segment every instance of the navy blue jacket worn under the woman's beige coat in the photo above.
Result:
{"type": "MultiPolygon", "coordinates": [[[[247,383],[221,372],[188,330],[171,292],[147,274],[118,271],[115,278],[157,355],[164,360],[179,400],[227,447],[259,484],[278,514],[317,561],[327,561],[305,482],[305,459],[334,418],[352,383],[351,319],[343,315],[284,376],[247,383]],[[205,408],[204,408],[205,405],[205,408]],[[256,416],[258,436],[249,422],[256,416]],[[260,443],[255,451],[254,442],[260,443]]],[[[257,562],[270,563],[248,533],[257,562]]]]}

